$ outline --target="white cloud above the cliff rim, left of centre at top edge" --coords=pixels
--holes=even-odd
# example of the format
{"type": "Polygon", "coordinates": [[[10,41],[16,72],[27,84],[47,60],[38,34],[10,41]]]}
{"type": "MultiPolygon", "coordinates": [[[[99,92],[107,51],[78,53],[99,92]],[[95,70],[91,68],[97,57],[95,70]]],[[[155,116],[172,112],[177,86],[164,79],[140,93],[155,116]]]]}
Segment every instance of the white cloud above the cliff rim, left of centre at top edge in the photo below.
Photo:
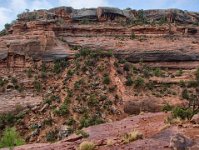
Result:
{"type": "Polygon", "coordinates": [[[91,8],[98,6],[109,6],[107,0],[59,0],[60,5],[73,8],[91,8]]]}

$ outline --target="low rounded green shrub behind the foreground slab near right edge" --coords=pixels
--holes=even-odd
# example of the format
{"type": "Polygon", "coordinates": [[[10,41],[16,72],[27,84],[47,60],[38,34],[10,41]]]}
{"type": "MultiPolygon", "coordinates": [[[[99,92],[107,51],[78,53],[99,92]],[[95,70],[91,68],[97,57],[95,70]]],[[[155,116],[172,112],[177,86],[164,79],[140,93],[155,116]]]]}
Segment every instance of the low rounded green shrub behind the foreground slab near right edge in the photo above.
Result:
{"type": "Polygon", "coordinates": [[[174,118],[181,119],[191,119],[193,116],[193,111],[190,108],[175,107],[172,110],[172,116],[174,118]]]}

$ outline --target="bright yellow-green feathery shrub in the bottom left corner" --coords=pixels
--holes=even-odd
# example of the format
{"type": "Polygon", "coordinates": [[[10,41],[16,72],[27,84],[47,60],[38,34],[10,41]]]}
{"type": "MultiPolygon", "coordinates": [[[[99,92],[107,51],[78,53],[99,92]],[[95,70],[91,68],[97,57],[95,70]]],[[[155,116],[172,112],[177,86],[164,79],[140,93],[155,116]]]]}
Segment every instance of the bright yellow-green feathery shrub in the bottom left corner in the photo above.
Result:
{"type": "Polygon", "coordinates": [[[15,128],[6,128],[0,140],[0,148],[9,147],[12,149],[14,146],[25,144],[24,140],[19,136],[15,128]]]}

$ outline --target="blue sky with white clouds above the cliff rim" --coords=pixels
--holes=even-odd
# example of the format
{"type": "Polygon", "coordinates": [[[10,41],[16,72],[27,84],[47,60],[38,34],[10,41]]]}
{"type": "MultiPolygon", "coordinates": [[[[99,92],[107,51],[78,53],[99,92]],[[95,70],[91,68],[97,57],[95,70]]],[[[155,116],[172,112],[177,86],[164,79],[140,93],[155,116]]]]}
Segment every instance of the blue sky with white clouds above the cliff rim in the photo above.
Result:
{"type": "Polygon", "coordinates": [[[110,6],[132,9],[178,8],[199,11],[199,0],[0,0],[0,30],[25,9],[49,9],[57,6],[88,8],[110,6]]]}

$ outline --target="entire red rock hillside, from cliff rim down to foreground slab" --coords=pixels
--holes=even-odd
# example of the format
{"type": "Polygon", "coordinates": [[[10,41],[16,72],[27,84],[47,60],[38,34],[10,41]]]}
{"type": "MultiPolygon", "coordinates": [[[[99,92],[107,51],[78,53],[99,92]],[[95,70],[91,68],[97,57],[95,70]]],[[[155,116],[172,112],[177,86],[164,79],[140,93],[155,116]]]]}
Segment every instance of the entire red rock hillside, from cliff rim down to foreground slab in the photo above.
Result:
{"type": "MultiPolygon", "coordinates": [[[[157,112],[197,100],[198,16],[106,7],[20,14],[0,33],[0,135],[15,126],[26,143],[41,143],[88,132],[87,140],[99,140],[101,149],[168,149],[180,129],[156,131],[168,115],[157,112]],[[154,114],[139,115],[146,112],[154,114]],[[129,115],[139,116],[122,120],[129,115]],[[124,144],[122,134],[134,128],[145,139],[124,144]]],[[[81,142],[69,137],[35,146],[76,148],[81,142]]]]}

